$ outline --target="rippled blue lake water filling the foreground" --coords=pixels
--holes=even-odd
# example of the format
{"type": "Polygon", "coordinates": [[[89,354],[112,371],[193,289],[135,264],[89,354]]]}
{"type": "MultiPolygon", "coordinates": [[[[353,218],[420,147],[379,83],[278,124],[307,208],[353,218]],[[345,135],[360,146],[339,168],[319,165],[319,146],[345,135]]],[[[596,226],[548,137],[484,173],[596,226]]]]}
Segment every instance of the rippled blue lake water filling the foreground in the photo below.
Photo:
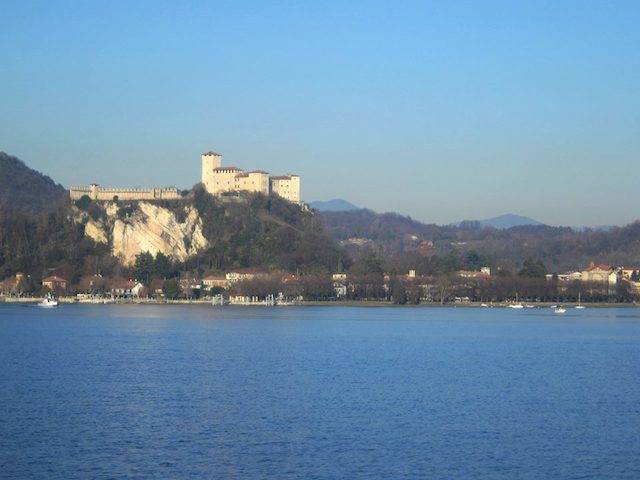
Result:
{"type": "Polygon", "coordinates": [[[640,310],[0,306],[2,478],[640,478],[640,310]]]}

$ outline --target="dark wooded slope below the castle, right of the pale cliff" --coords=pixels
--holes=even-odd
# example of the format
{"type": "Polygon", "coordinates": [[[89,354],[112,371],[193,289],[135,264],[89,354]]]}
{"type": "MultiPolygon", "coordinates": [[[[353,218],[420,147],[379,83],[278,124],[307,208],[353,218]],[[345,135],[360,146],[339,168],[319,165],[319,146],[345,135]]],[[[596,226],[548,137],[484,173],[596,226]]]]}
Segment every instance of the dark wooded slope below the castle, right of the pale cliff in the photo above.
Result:
{"type": "Polygon", "coordinates": [[[211,246],[190,259],[187,269],[263,267],[329,272],[349,264],[316,215],[277,195],[215,198],[196,187],[192,201],[211,246]]]}

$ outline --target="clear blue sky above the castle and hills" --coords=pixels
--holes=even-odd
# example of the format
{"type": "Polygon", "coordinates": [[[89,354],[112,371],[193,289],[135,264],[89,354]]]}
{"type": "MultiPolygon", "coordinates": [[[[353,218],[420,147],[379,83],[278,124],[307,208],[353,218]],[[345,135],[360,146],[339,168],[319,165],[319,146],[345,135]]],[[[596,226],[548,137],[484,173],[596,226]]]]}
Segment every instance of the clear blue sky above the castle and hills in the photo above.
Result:
{"type": "Polygon", "coordinates": [[[0,150],[66,186],[199,154],[448,223],[640,218],[640,2],[18,2],[0,150]]]}

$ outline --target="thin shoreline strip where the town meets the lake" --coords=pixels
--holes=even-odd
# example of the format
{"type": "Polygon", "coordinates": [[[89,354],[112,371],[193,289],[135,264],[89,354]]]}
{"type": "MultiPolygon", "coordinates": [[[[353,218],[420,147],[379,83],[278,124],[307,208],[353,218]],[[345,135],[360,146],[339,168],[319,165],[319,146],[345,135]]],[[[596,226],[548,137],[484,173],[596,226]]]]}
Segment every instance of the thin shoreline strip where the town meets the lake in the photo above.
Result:
{"type": "MultiPolygon", "coordinates": [[[[5,297],[0,298],[0,305],[35,305],[42,301],[40,297],[5,297]]],[[[109,300],[106,301],[78,301],[75,297],[60,297],[58,299],[61,305],[95,305],[95,306],[193,306],[193,305],[212,305],[212,300],[155,300],[155,299],[128,299],[128,300],[109,300]]],[[[578,305],[577,302],[525,302],[526,305],[532,307],[526,308],[549,308],[554,305],[562,305],[563,307],[573,308],[578,305]]],[[[419,304],[395,304],[390,301],[376,301],[376,300],[337,300],[337,301],[302,301],[288,305],[275,305],[276,307],[420,307],[420,308],[507,308],[510,305],[508,302],[499,303],[484,303],[484,302],[465,302],[465,303],[419,303],[419,304]]],[[[612,303],[612,302],[599,302],[599,303],[581,303],[582,306],[587,308],[638,308],[640,304],[636,303],[612,303]]],[[[263,304],[255,305],[239,305],[229,304],[224,307],[264,307],[263,304]]]]}

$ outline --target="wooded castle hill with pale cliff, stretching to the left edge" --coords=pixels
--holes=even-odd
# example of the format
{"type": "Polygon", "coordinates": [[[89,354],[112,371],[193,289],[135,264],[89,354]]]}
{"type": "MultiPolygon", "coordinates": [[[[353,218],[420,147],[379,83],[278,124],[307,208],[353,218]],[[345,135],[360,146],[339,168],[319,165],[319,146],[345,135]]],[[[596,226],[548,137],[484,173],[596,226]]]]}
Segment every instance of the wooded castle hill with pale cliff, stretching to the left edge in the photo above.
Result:
{"type": "Polygon", "coordinates": [[[163,254],[171,272],[263,267],[330,271],[343,251],[319,217],[278,196],[213,197],[200,186],[175,201],[71,203],[66,191],[2,156],[0,279],[56,272],[72,283],[99,272],[132,276],[136,257],[163,254]]]}

